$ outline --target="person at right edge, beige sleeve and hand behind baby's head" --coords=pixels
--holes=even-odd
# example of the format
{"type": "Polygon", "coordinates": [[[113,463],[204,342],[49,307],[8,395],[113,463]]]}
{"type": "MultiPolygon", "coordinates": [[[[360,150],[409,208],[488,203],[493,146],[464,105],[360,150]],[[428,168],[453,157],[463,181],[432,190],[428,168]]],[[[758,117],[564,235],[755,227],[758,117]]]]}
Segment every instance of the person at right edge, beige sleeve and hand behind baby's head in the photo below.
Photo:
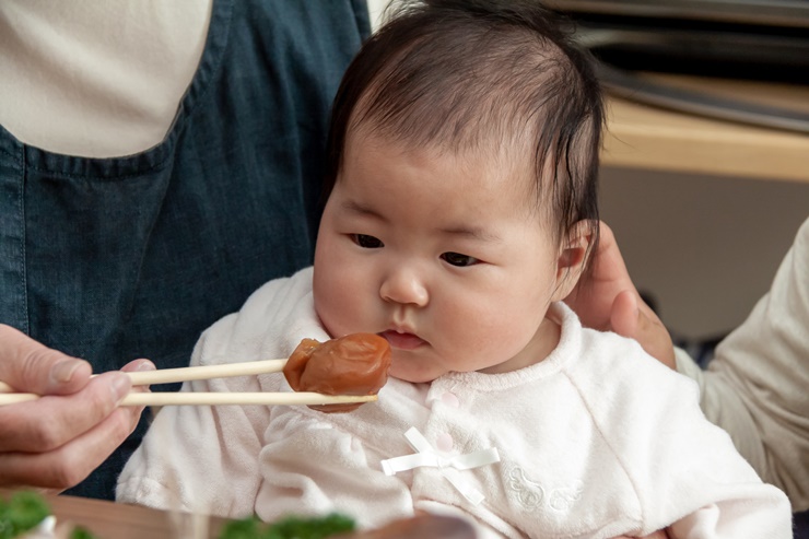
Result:
{"type": "MultiPolygon", "coordinates": [[[[809,509],[809,219],[770,291],[716,348],[706,371],[671,345],[606,225],[590,279],[566,301],[585,325],[637,339],[652,355],[694,378],[708,420],[730,434],[765,482],[786,492],[795,512],[809,509]]],[[[809,530],[807,513],[796,522],[809,530]]]]}

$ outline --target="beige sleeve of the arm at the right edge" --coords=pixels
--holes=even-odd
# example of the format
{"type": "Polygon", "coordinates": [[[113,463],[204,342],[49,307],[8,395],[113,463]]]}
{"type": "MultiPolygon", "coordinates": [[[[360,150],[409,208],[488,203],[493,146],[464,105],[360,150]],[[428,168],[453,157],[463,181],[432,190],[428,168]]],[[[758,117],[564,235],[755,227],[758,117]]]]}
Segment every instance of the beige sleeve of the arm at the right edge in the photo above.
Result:
{"type": "Polygon", "coordinates": [[[716,349],[703,372],[683,351],[707,418],[725,429],[762,479],[809,509],[809,219],[770,292],[716,349]]]}

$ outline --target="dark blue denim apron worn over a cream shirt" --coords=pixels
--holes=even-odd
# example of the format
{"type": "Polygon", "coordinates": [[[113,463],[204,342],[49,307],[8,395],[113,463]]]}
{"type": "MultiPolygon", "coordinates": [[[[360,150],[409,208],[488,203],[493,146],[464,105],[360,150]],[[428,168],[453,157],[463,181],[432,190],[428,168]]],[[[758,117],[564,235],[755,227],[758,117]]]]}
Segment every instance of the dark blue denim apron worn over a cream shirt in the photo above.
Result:
{"type": "MultiPolygon", "coordinates": [[[[203,329],[312,262],[328,112],[367,33],[364,0],[216,0],[156,147],[80,159],[0,127],[0,321],[96,372],[186,365],[203,329]]],[[[112,499],[143,430],[70,493],[112,499]]]]}

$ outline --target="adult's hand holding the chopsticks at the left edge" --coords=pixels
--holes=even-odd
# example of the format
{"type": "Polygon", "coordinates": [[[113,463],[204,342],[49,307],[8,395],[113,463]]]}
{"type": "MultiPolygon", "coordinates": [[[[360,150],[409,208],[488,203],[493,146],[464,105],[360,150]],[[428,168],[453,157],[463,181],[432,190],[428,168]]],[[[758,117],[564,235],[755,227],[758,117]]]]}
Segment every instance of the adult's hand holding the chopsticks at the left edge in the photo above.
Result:
{"type": "MultiPolygon", "coordinates": [[[[136,360],[122,371],[153,368],[150,361],[136,360]]],[[[118,407],[131,389],[129,377],[91,374],[86,361],[0,324],[0,379],[17,391],[43,395],[0,406],[0,487],[69,489],[134,430],[142,408],[118,407]]]]}

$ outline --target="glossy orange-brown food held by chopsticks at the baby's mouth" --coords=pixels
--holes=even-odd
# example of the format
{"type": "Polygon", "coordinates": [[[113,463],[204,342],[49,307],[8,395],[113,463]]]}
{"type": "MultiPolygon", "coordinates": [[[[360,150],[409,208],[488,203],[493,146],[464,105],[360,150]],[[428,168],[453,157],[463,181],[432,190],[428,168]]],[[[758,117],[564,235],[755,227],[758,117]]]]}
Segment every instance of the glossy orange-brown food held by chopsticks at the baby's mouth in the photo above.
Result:
{"type": "MultiPolygon", "coordinates": [[[[304,339],[283,373],[295,391],[324,395],[376,395],[388,380],[390,345],[374,333],[351,333],[319,342],[304,339]]],[[[348,412],[362,402],[310,406],[324,412],[348,412]]]]}

